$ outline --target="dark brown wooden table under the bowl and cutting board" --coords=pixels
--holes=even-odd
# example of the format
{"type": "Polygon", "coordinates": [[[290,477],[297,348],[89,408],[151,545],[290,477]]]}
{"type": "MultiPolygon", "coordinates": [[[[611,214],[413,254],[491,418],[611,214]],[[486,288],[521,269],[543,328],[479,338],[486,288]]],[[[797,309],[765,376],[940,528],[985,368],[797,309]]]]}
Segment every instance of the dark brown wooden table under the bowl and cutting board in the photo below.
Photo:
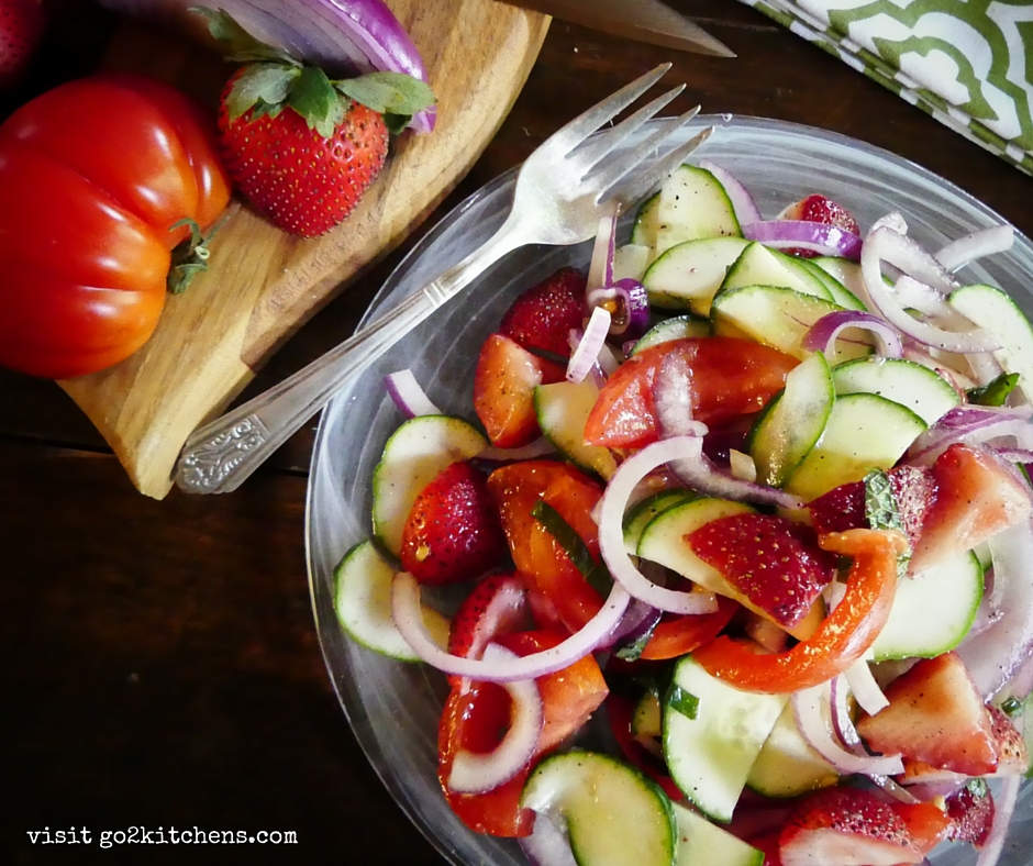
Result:
{"type": "MultiPolygon", "coordinates": [[[[509,119],[430,222],[670,59],[669,78],[688,82],[675,109],[701,102],[855,136],[1033,231],[1033,180],[997,157],[744,5],[671,5],[738,57],[553,22],[509,119]]],[[[54,22],[26,92],[89,70],[112,16],[87,12],[54,22]]],[[[319,313],[247,393],[348,333],[410,244],[319,313]]],[[[323,666],[304,566],[315,423],[235,493],[154,501],[56,385],[0,370],[0,862],[442,862],[381,787],[323,666]],[[298,844],[99,848],[101,831],[132,826],[292,831],[298,844]],[[32,844],[45,828],[86,828],[93,843],[32,844]]]]}

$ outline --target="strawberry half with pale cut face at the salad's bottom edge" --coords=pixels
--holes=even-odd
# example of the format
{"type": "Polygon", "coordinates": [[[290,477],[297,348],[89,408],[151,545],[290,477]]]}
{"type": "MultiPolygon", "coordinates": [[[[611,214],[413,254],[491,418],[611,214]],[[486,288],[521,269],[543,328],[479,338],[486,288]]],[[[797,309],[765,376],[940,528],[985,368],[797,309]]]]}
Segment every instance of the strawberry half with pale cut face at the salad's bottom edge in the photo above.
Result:
{"type": "Polygon", "coordinates": [[[782,866],[896,866],[924,857],[903,819],[859,788],[824,788],[803,797],[786,819],[778,847],[782,866]]]}

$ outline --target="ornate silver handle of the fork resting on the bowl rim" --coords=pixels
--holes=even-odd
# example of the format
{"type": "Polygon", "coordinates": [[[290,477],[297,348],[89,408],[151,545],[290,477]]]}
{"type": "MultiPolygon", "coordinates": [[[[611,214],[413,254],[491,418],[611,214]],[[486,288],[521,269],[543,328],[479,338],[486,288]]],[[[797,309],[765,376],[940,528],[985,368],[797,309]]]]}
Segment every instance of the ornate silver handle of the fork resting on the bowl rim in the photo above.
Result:
{"type": "Polygon", "coordinates": [[[176,484],[191,493],[235,490],[337,390],[502,256],[532,241],[518,220],[507,220],[482,246],[362,331],[279,385],[199,428],[184,445],[176,484]]]}

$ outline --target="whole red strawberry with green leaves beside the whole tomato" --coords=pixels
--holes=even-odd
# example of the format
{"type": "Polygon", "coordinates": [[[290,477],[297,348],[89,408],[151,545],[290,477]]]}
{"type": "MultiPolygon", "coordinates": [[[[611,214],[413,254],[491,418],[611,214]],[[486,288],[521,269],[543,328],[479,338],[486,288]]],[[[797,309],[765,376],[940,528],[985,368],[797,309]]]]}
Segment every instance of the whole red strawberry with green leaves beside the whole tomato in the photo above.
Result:
{"type": "Polygon", "coordinates": [[[222,157],[237,189],[270,222],[315,237],[342,222],[384,167],[390,134],[433,102],[399,73],[331,80],[254,40],[221,10],[198,9],[212,35],[246,63],[223,90],[222,157]]]}

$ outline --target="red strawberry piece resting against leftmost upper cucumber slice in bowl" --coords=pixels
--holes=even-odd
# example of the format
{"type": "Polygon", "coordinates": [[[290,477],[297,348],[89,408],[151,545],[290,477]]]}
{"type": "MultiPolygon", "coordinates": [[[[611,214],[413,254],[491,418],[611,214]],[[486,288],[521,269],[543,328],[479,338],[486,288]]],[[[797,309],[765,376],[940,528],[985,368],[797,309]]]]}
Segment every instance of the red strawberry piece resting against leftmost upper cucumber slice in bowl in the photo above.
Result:
{"type": "Polygon", "coordinates": [[[486,480],[469,463],[454,463],[416,496],[399,554],[416,580],[468,580],[502,562],[506,536],[486,480]]]}

